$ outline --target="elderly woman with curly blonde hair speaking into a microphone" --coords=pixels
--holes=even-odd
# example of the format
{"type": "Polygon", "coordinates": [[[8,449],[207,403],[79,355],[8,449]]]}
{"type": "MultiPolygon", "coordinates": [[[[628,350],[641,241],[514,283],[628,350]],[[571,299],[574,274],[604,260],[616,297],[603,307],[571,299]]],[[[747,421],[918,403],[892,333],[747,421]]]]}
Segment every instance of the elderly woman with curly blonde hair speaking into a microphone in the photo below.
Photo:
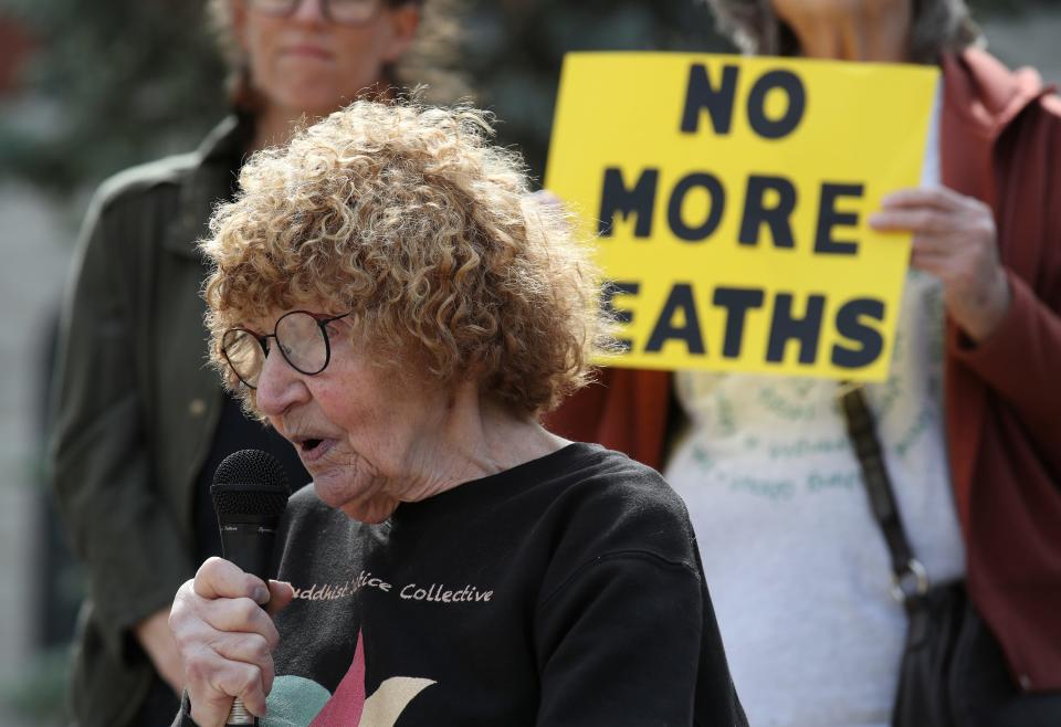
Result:
{"type": "Polygon", "coordinates": [[[745,724],[681,501],[538,424],[586,378],[595,278],[489,131],[358,102],[216,213],[213,361],[313,484],[281,582],[211,559],[180,589],[178,724],[237,696],[264,725],[745,724]]]}

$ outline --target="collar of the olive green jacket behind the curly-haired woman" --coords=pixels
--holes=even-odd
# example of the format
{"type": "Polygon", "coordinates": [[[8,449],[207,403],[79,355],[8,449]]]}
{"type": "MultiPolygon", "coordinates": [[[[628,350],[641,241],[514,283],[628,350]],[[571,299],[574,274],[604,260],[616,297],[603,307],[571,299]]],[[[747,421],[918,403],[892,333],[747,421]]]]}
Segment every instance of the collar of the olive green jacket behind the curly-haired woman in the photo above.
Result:
{"type": "Polygon", "coordinates": [[[197,244],[207,233],[207,220],[213,208],[232,197],[253,127],[250,117],[228,116],[192,152],[191,168],[179,187],[179,210],[164,240],[167,251],[183,257],[200,257],[197,244]]]}

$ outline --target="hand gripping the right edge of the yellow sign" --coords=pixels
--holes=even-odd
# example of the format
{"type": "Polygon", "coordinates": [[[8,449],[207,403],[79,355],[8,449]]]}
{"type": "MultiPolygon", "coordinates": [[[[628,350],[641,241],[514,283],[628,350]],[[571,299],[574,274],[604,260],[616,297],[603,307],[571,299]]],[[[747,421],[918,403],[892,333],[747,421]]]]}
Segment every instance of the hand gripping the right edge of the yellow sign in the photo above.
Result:
{"type": "Polygon", "coordinates": [[[911,266],[943,282],[947,313],[969,338],[981,341],[998,327],[1010,292],[987,204],[945,187],[904,189],[884,198],[870,225],[913,233],[911,266]]]}

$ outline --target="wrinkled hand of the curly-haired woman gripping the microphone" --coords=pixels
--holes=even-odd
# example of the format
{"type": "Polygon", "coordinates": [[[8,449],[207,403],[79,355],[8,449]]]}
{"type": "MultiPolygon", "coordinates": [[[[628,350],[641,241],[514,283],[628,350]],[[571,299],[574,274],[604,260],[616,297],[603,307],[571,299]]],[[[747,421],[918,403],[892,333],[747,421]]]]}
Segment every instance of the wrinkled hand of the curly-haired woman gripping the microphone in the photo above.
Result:
{"type": "Polygon", "coordinates": [[[279,634],[270,618],[291,602],[290,584],[261,579],[210,558],[177,591],[169,626],[185,665],[191,717],[200,727],[224,725],[233,697],[263,716],[273,685],[279,634]],[[269,613],[259,604],[267,603],[269,613]]]}

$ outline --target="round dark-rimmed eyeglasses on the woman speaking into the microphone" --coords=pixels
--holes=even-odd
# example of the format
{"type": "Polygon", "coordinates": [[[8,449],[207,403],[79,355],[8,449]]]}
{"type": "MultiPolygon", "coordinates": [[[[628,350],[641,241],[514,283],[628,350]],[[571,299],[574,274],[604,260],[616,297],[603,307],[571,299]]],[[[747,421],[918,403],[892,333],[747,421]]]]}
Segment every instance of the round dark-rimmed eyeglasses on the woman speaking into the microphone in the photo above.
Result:
{"type": "Polygon", "coordinates": [[[276,339],[276,347],[291,368],[315,376],[332,360],[332,343],[328,340],[328,324],[350,315],[322,318],[308,310],[292,310],[276,320],[271,334],[256,334],[246,328],[230,328],[221,336],[221,354],[232,367],[232,372],[251,389],[258,380],[269,356],[269,339],[276,339]]]}

